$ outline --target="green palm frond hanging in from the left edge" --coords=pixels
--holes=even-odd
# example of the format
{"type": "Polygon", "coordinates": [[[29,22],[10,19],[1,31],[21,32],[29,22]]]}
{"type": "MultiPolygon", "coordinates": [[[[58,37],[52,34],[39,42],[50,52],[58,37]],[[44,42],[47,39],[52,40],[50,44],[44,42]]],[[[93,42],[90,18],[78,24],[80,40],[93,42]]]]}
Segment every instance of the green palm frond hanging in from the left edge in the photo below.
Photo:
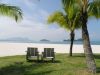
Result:
{"type": "Polygon", "coordinates": [[[19,7],[0,4],[0,14],[14,18],[16,21],[22,19],[22,11],[19,7]]]}

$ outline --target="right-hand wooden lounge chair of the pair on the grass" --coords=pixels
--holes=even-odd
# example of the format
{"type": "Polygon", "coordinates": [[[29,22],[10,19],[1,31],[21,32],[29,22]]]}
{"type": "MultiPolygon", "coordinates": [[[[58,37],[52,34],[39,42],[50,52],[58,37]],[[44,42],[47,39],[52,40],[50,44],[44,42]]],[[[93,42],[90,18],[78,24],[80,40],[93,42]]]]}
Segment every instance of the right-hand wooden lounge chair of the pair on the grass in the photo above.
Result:
{"type": "Polygon", "coordinates": [[[42,52],[42,60],[44,60],[44,58],[52,59],[52,62],[54,62],[55,59],[54,48],[44,48],[44,52],[42,52]]]}

